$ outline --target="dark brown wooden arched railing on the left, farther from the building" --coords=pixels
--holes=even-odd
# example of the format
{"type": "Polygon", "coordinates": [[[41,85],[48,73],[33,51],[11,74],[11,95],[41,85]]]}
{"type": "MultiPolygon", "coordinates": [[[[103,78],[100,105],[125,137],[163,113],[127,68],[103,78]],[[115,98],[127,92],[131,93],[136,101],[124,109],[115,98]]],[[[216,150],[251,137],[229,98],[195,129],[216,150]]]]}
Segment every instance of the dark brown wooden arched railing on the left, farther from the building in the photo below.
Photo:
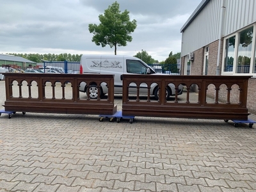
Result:
{"type": "Polygon", "coordinates": [[[5,73],[4,76],[6,111],[92,115],[116,112],[113,75],[5,73]],[[108,98],[86,97],[85,93],[79,92],[82,82],[89,86],[97,84],[99,92],[100,83],[108,84],[108,98]]]}

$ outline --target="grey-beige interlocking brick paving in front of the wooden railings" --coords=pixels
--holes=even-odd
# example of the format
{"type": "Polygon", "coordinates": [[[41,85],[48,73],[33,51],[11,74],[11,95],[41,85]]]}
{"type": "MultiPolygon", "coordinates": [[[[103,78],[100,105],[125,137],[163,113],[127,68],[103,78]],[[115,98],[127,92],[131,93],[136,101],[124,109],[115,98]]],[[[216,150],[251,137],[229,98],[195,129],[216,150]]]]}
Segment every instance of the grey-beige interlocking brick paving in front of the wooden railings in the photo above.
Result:
{"type": "MultiPolygon", "coordinates": [[[[0,81],[1,105],[4,100],[0,81]]],[[[0,191],[256,191],[253,127],[204,119],[136,116],[132,124],[117,124],[99,122],[97,115],[2,114],[0,191]]]]}

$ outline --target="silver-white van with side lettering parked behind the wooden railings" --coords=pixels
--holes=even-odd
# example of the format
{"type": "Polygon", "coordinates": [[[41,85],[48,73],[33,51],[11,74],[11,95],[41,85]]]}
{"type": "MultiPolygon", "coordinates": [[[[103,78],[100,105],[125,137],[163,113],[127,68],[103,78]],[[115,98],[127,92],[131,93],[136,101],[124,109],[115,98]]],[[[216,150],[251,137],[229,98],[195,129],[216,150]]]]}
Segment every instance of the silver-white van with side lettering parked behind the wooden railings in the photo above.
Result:
{"type": "MultiPolygon", "coordinates": [[[[148,74],[149,76],[156,74],[156,72],[146,63],[141,61],[139,58],[135,58],[132,56],[84,54],[81,57],[80,65],[80,74],[114,74],[115,94],[122,94],[123,74],[148,74]]],[[[144,88],[143,84],[141,84],[140,86],[140,94],[147,95],[147,85],[145,84],[144,88]]],[[[80,92],[86,92],[86,83],[82,82],[80,84],[79,90],[80,92]]],[[[178,94],[182,94],[182,91],[183,86],[180,84],[178,94]]],[[[101,84],[100,96],[105,95],[106,93],[108,93],[108,88],[101,84]]],[[[136,86],[134,86],[134,89],[129,90],[129,93],[136,94],[136,86]],[[134,92],[132,92],[132,90],[134,92]]],[[[150,95],[154,95],[154,97],[158,100],[159,92],[156,83],[151,85],[150,95]]],[[[175,86],[172,83],[168,84],[166,98],[168,99],[171,95],[175,95],[175,86]]],[[[97,96],[98,90],[96,84],[91,85],[90,99],[97,99],[97,96]]]]}

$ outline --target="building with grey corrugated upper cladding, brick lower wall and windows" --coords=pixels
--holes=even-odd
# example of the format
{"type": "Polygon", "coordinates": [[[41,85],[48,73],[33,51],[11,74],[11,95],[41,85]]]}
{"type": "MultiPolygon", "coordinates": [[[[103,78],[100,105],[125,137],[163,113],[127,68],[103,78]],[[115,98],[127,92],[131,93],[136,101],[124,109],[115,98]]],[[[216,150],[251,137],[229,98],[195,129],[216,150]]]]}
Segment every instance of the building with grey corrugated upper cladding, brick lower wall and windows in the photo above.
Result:
{"type": "Polygon", "coordinates": [[[203,0],[182,26],[181,73],[252,76],[249,111],[256,113],[256,0],[203,0]]]}

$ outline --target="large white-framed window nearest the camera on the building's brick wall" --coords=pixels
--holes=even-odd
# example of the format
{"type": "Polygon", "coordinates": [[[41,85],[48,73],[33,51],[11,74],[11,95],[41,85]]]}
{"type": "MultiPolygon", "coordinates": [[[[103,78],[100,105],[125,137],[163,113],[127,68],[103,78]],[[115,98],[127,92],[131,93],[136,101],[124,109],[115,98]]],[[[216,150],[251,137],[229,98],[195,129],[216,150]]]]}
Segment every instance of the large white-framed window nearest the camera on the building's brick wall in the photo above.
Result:
{"type": "Polygon", "coordinates": [[[225,53],[223,54],[223,74],[255,74],[256,42],[254,26],[237,31],[225,38],[225,53]],[[255,52],[253,49],[255,47],[255,52]],[[252,60],[252,58],[255,58],[252,60]]]}

